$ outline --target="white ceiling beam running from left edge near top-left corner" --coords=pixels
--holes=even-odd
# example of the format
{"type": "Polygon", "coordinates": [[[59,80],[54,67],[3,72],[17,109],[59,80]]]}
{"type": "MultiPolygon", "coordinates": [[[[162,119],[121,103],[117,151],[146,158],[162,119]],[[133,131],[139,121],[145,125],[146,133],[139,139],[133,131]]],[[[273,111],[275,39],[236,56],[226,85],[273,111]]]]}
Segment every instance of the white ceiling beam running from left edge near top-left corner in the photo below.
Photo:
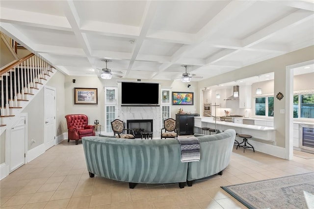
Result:
{"type": "Polygon", "coordinates": [[[3,7],[1,7],[0,22],[67,31],[71,29],[65,17],[3,7]]]}

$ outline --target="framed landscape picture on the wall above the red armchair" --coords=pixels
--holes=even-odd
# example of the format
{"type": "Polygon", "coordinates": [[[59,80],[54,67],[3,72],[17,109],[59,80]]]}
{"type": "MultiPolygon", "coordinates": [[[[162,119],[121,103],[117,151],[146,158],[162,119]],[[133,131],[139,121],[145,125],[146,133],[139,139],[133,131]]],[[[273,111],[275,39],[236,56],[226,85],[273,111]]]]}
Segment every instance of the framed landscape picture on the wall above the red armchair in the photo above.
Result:
{"type": "Polygon", "coordinates": [[[74,104],[97,104],[97,88],[74,88],[74,104]]]}

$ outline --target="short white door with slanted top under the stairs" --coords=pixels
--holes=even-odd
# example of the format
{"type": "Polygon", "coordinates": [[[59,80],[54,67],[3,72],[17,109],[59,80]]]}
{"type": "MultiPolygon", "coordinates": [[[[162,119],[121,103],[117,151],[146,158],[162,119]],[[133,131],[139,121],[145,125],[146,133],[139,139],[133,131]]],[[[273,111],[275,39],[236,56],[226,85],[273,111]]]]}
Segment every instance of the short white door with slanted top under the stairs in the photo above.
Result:
{"type": "Polygon", "coordinates": [[[10,173],[25,164],[25,120],[26,116],[21,116],[11,128],[10,173]]]}

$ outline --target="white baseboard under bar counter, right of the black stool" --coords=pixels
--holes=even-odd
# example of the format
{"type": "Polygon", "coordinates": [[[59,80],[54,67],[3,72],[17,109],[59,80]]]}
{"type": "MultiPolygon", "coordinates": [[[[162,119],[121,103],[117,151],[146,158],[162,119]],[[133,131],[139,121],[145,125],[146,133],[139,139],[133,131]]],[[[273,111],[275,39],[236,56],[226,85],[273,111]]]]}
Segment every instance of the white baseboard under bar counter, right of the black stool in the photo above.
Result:
{"type": "MultiPolygon", "coordinates": [[[[258,141],[248,140],[249,143],[254,147],[255,151],[259,151],[261,153],[265,153],[271,156],[280,157],[285,159],[285,148],[284,147],[278,147],[271,144],[264,144],[258,141]]],[[[240,149],[240,148],[237,148],[240,149]]],[[[242,148],[243,149],[243,148],[242,148]]]]}

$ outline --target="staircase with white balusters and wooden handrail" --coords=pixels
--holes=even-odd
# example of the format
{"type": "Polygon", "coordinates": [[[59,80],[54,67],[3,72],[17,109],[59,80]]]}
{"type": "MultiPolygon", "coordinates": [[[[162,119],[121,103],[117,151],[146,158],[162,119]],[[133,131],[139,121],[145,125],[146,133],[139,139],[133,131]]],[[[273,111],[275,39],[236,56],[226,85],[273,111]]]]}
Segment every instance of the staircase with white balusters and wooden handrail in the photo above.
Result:
{"type": "Polygon", "coordinates": [[[11,127],[54,72],[50,64],[33,53],[0,70],[0,134],[11,127]]]}

